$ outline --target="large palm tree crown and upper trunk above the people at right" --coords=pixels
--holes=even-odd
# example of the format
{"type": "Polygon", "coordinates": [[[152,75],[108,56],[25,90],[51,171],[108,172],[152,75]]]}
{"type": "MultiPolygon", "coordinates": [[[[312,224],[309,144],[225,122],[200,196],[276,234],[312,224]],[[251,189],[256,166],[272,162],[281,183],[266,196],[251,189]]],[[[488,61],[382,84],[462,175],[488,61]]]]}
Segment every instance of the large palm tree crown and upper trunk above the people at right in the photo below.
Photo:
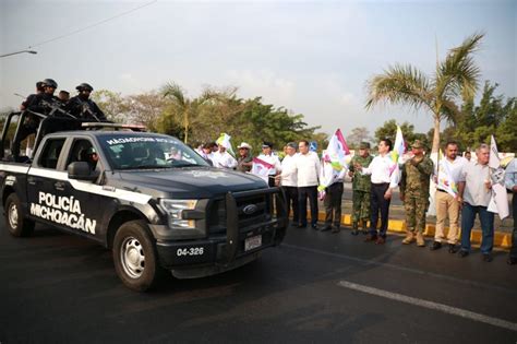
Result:
{"type": "Polygon", "coordinates": [[[440,123],[455,122],[460,110],[455,100],[473,98],[479,86],[480,70],[472,52],[477,51],[484,34],[473,34],[448,51],[444,61],[436,61],[436,71],[429,78],[411,64],[395,64],[366,83],[366,109],[377,103],[409,105],[416,110],[425,108],[433,115],[434,135],[431,152],[440,146],[440,123]]]}

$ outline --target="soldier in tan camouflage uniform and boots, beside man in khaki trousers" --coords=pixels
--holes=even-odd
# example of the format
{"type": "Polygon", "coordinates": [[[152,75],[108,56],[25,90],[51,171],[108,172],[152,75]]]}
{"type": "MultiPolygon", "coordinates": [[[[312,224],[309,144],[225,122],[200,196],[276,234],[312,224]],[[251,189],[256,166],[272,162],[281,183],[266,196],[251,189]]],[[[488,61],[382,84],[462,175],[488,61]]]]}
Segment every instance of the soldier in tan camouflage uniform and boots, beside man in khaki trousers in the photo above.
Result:
{"type": "Polygon", "coordinates": [[[417,240],[419,247],[424,247],[423,230],[425,213],[429,206],[429,183],[433,173],[433,162],[423,155],[423,144],[416,140],[411,145],[413,157],[402,165],[400,180],[400,200],[406,209],[407,235],[402,244],[417,240]]]}

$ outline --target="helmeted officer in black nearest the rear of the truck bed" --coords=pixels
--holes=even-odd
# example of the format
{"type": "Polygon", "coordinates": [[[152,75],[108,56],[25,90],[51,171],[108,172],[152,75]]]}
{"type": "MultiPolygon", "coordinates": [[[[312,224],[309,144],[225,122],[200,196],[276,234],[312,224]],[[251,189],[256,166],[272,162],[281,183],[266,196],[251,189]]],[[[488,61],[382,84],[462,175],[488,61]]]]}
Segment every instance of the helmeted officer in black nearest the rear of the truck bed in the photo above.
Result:
{"type": "MultiPolygon", "coordinates": [[[[36,87],[37,86],[38,84],[36,83],[36,87]]],[[[53,95],[56,88],[58,88],[58,83],[52,79],[45,79],[41,82],[41,87],[44,90],[43,93],[28,96],[21,106],[22,109],[28,110],[28,114],[26,115],[24,122],[19,126],[13,138],[11,154],[14,161],[19,161],[22,141],[28,135],[36,133],[38,130],[41,118],[33,112],[48,116],[60,106],[59,99],[53,95]]]]}

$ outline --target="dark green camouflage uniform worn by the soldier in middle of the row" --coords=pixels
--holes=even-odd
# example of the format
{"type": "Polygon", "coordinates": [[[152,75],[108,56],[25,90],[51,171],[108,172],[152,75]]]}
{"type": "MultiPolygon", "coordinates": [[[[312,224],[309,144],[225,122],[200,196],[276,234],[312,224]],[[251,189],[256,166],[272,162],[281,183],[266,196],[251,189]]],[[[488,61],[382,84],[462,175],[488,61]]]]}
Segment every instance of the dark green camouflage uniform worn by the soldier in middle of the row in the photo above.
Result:
{"type": "MultiPolygon", "coordinates": [[[[369,155],[366,157],[362,157],[356,155],[352,157],[350,162],[350,171],[353,173],[352,177],[352,203],[353,203],[353,211],[352,211],[352,223],[354,227],[359,223],[359,221],[368,222],[370,220],[370,189],[371,189],[371,181],[369,175],[361,175],[361,173],[356,173],[354,164],[359,164],[363,167],[368,167],[370,163],[373,161],[373,156],[369,155]]],[[[364,229],[364,228],[363,228],[364,229]]]]}

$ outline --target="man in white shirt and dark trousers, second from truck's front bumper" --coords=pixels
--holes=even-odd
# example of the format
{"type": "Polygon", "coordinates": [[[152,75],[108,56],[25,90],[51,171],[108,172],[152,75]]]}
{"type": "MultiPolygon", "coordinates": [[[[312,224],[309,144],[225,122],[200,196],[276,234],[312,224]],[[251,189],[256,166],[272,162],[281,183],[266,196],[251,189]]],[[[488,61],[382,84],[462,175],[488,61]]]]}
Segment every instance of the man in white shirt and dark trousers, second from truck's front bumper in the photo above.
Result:
{"type": "Polygon", "coordinates": [[[309,141],[302,140],[298,143],[300,154],[296,157],[297,182],[298,182],[298,206],[300,212],[299,228],[306,227],[306,199],[311,205],[311,227],[317,230],[317,185],[320,175],[320,157],[316,153],[309,151],[309,141]]]}

